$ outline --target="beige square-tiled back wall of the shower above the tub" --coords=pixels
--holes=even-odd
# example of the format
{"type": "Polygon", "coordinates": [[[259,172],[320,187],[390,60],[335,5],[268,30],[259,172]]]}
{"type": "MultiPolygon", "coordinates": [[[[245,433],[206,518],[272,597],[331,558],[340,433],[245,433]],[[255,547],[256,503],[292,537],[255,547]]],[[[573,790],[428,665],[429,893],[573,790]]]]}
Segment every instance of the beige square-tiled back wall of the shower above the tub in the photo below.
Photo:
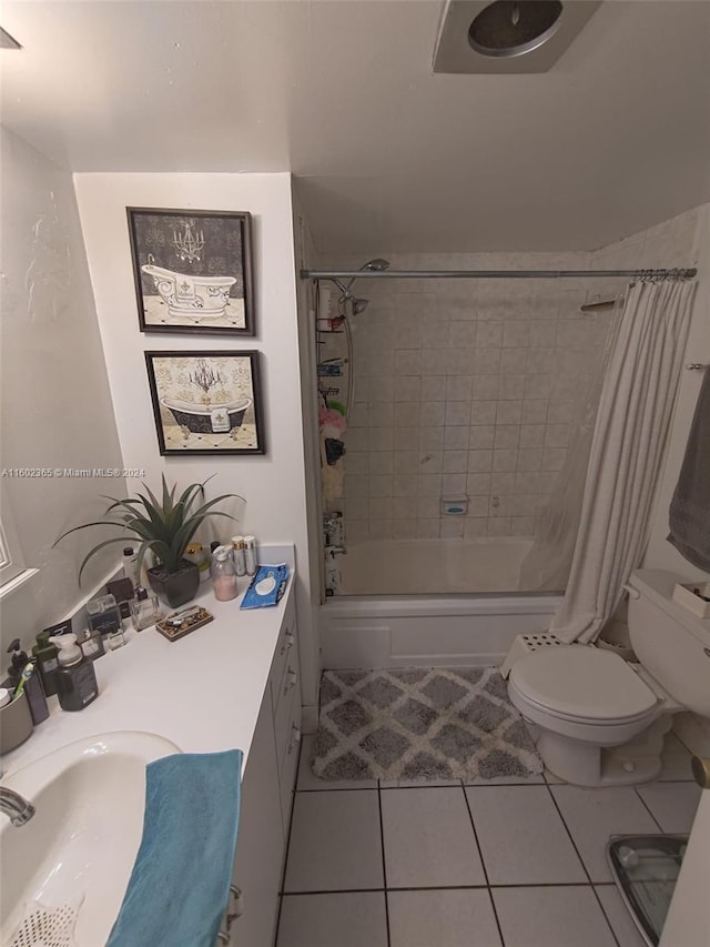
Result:
{"type": "MultiPolygon", "coordinates": [[[[587,253],[388,259],[402,270],[590,265],[587,253]]],[[[348,542],[532,536],[609,325],[609,312],[579,306],[606,290],[599,280],[358,281],[371,303],[352,320],[348,542]],[[467,514],[443,514],[448,497],[466,497],[467,514]]]]}

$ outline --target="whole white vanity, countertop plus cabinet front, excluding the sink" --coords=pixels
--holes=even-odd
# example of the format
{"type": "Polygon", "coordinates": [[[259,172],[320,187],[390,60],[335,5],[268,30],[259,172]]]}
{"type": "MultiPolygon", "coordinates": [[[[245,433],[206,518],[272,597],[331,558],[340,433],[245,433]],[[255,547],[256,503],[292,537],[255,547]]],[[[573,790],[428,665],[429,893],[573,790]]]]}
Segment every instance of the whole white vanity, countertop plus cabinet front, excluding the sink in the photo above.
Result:
{"type": "Polygon", "coordinates": [[[261,553],[292,571],[278,605],[241,611],[240,601],[219,602],[202,590],[196,603],[214,621],[178,642],[154,629],[126,632],[128,646],[97,662],[99,699],[65,714],[50,697],[50,723],[2,759],[9,776],[61,746],[116,731],[146,731],[184,753],[244,749],[232,876],[243,896],[230,899],[217,940],[232,947],[274,943],[301,736],[294,550],[262,546],[261,553]],[[209,682],[196,703],[185,699],[195,681],[209,682]]]}

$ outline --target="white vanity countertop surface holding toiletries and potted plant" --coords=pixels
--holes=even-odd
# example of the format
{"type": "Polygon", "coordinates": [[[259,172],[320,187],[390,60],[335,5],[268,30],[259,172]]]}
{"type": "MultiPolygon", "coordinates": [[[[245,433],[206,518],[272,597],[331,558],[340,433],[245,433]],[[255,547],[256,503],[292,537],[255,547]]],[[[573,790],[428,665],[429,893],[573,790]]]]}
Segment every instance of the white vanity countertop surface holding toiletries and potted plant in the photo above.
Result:
{"type": "Polygon", "coordinates": [[[115,731],[159,734],[184,753],[236,747],[244,753],[245,766],[281,624],[294,594],[293,547],[264,547],[261,558],[291,566],[278,605],[241,612],[245,578],[239,580],[240,595],[231,602],[217,602],[206,582],[195,602],[214,615],[213,622],[175,642],[155,628],[128,632],[124,647],[106,651],[94,662],[98,698],[70,713],[50,697],[49,718],[2,757],[4,776],[75,739],[115,731]]]}

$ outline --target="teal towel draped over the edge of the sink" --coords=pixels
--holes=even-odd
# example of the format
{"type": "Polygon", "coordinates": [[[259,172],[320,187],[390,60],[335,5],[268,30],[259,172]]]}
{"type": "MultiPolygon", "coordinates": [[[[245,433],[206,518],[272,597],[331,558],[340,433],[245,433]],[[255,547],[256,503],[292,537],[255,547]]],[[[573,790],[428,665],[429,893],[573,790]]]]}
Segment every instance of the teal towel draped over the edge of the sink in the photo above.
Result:
{"type": "Polygon", "coordinates": [[[143,838],[106,947],[214,947],[230,897],[242,756],[149,763],[143,838]]]}

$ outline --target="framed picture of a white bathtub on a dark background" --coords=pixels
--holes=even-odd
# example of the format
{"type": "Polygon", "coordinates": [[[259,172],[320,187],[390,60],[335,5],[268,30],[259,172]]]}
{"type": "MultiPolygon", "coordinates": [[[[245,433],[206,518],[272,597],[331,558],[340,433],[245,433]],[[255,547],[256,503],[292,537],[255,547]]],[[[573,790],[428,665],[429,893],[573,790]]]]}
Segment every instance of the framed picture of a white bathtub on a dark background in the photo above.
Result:
{"type": "Polygon", "coordinates": [[[141,332],[254,335],[250,213],[126,212],[141,332]]]}

